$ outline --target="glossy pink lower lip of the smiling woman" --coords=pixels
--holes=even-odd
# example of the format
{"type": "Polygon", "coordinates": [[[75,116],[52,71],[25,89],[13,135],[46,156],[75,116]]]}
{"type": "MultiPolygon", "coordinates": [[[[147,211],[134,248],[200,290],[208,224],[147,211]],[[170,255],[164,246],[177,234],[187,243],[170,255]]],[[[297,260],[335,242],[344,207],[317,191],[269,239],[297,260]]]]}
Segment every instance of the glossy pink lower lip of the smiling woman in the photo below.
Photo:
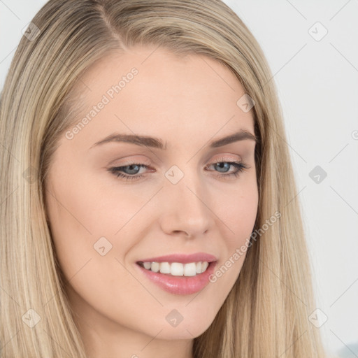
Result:
{"type": "Polygon", "coordinates": [[[201,291],[208,285],[209,276],[213,273],[217,262],[210,262],[208,268],[203,273],[195,276],[173,276],[166,273],[149,271],[138,264],[141,272],[156,285],[171,294],[194,294],[201,291]]]}

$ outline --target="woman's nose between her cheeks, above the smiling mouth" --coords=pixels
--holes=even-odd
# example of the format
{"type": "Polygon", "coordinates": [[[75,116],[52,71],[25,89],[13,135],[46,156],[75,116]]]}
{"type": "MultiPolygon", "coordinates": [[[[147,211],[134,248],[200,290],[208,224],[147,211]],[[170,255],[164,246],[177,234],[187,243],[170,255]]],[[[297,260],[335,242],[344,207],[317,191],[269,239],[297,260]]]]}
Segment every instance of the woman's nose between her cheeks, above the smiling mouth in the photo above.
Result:
{"type": "Polygon", "coordinates": [[[198,178],[185,175],[177,184],[166,182],[160,195],[159,224],[171,236],[194,238],[213,224],[210,196],[198,178]]]}

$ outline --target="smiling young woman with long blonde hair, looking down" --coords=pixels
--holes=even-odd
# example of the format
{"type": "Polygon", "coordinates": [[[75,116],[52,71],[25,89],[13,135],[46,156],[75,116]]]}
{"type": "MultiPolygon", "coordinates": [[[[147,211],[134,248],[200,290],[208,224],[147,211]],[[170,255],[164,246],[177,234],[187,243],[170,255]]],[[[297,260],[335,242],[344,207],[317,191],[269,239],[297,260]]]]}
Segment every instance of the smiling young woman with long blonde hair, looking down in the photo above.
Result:
{"type": "Polygon", "coordinates": [[[324,356],[271,77],[218,0],[43,6],[1,96],[2,357],[324,356]]]}

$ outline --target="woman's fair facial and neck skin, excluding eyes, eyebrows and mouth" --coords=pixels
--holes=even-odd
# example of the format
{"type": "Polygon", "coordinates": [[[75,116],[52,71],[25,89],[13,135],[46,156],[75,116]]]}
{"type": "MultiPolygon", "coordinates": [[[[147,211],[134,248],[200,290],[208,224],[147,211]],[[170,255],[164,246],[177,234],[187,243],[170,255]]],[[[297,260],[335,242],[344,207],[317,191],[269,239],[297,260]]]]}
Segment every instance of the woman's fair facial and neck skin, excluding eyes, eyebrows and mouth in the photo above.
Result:
{"type": "Polygon", "coordinates": [[[236,105],[243,87],[210,57],[153,50],[136,46],[113,53],[85,73],[86,86],[78,87],[85,109],[75,124],[122,76],[138,69],[76,136],[61,137],[45,181],[50,230],[88,357],[192,357],[193,339],[213,322],[245,254],[217,282],[189,295],[157,287],[136,262],[208,252],[220,268],[250,237],[257,215],[255,141],[208,148],[240,129],[254,134],[252,110],[244,113],[236,105]],[[167,149],[119,142],[90,149],[113,132],[155,136],[167,149]],[[139,180],[108,171],[128,160],[148,165],[122,171],[142,174],[139,180]],[[238,177],[219,177],[236,168],[220,171],[215,162],[238,160],[250,168],[238,177]],[[184,173],[176,185],[165,176],[173,165],[184,173]],[[103,256],[94,250],[102,236],[112,245],[103,256]],[[176,327],[165,318],[174,309],[183,317],[176,327]]]}

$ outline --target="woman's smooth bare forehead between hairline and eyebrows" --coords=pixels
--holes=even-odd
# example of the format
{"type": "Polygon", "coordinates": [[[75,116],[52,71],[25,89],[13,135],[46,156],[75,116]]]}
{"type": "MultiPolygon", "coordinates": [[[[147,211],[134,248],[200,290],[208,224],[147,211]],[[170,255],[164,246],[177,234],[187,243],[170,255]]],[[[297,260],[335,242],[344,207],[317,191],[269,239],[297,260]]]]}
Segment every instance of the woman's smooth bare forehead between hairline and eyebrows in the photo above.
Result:
{"type": "Polygon", "coordinates": [[[245,94],[241,83],[208,56],[151,47],[112,53],[80,78],[78,92],[83,107],[76,120],[87,117],[78,141],[117,131],[168,138],[170,147],[238,129],[253,133],[252,111],[236,103],[245,94]]]}

